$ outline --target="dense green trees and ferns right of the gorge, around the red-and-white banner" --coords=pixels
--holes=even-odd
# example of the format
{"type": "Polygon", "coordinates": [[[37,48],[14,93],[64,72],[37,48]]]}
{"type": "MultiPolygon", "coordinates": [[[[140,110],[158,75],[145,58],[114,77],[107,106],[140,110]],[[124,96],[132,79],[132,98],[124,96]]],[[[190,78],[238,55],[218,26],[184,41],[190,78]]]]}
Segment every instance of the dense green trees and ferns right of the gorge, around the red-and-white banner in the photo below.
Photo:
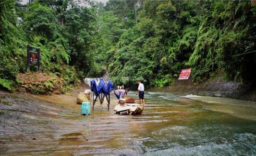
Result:
{"type": "Polygon", "coordinates": [[[217,72],[239,81],[256,78],[256,54],[235,56],[256,50],[250,1],[108,1],[99,8],[98,59],[117,84],[140,78],[163,87],[190,67],[196,81],[217,72]]]}

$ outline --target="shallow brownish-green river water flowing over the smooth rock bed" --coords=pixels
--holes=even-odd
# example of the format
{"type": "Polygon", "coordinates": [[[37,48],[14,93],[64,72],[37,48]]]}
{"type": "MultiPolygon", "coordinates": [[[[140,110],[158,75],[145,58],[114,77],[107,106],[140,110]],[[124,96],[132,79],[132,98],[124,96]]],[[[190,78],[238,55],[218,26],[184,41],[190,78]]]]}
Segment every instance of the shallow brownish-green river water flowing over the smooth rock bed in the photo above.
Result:
{"type": "Polygon", "coordinates": [[[146,92],[145,99],[143,114],[136,116],[114,114],[113,98],[110,111],[97,105],[88,116],[71,106],[42,137],[15,143],[6,154],[256,155],[255,102],[161,92],[146,92]]]}

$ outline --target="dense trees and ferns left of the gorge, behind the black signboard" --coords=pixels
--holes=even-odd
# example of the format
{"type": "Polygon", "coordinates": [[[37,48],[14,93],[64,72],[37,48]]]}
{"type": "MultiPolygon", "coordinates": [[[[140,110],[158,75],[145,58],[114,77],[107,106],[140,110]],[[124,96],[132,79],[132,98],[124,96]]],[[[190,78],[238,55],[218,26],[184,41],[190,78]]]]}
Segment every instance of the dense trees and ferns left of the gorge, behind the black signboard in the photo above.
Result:
{"type": "Polygon", "coordinates": [[[72,1],[0,1],[0,86],[10,90],[17,73],[26,71],[28,44],[41,49],[42,72],[66,85],[102,75],[93,56],[94,10],[72,1]]]}

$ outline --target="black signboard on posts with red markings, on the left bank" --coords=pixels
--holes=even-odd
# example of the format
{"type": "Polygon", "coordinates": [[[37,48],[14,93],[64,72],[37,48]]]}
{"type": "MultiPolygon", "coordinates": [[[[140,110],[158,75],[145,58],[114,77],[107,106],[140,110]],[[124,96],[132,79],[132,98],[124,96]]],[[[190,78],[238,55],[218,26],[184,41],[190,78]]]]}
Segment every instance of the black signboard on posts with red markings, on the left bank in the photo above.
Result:
{"type": "Polygon", "coordinates": [[[37,65],[40,71],[40,49],[27,45],[27,72],[30,71],[30,64],[37,65]]]}

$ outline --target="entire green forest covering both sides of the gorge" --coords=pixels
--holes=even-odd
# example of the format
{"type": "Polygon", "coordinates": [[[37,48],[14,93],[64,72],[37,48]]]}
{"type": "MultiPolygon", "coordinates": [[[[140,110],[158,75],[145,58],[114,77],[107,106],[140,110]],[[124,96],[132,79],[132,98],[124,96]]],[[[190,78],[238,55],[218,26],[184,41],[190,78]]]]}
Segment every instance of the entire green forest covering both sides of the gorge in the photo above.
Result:
{"type": "Polygon", "coordinates": [[[116,85],[140,79],[256,84],[256,7],[251,1],[0,1],[0,87],[26,73],[26,46],[41,49],[43,73],[77,85],[106,71],[116,85]]]}

